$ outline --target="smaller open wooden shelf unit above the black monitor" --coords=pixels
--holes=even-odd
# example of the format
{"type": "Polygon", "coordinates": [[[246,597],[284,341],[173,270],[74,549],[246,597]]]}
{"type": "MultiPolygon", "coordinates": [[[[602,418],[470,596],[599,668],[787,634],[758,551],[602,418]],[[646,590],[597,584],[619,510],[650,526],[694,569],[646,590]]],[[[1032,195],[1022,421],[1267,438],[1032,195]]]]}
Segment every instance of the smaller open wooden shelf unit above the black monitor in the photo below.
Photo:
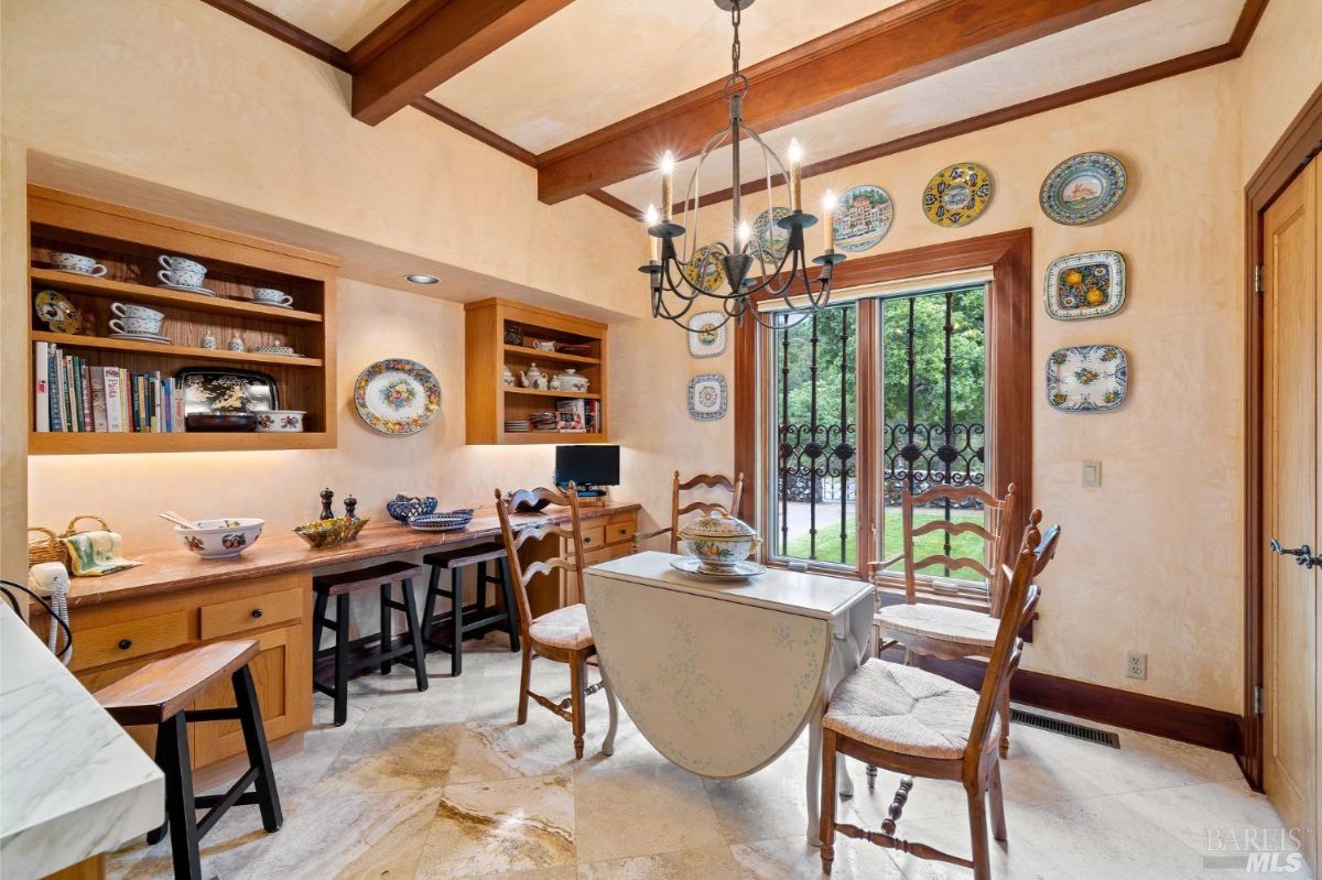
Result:
{"type": "Polygon", "coordinates": [[[605,443],[608,429],[605,346],[607,326],[598,321],[504,299],[469,303],[465,318],[467,440],[471,444],[605,443]],[[522,344],[510,340],[521,340],[522,344]],[[547,351],[533,341],[586,346],[590,354],[547,351]],[[547,377],[572,369],[588,381],[587,391],[525,388],[517,377],[531,365],[547,377]],[[516,375],[506,386],[504,367],[516,375]],[[555,410],[558,400],[588,400],[600,407],[600,431],[505,431],[506,420],[555,410]]]}

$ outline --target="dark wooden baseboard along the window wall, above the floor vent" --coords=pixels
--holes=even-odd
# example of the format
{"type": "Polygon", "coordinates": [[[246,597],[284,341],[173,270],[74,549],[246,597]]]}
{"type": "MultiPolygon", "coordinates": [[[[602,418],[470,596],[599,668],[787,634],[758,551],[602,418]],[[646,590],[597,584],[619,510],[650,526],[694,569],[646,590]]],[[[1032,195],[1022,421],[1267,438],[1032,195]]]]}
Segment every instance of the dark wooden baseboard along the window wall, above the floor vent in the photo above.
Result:
{"type": "MultiPolygon", "coordinates": [[[[931,657],[920,658],[919,665],[973,688],[982,686],[982,673],[986,669],[986,663],[981,661],[941,661],[931,657]]],[[[1031,670],[1019,670],[1014,674],[1010,680],[1010,699],[1023,706],[1163,736],[1218,752],[1237,756],[1241,751],[1240,716],[1206,706],[1178,703],[1031,670]]]]}

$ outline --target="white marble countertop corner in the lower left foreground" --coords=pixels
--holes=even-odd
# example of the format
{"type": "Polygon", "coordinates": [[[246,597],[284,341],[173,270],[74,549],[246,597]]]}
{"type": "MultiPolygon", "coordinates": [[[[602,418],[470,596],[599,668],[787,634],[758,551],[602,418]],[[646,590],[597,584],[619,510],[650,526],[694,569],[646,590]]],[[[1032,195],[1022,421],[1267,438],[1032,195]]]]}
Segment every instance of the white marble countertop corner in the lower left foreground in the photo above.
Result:
{"type": "Polygon", "coordinates": [[[42,877],[165,821],[165,777],[0,603],[0,875],[42,877]]]}

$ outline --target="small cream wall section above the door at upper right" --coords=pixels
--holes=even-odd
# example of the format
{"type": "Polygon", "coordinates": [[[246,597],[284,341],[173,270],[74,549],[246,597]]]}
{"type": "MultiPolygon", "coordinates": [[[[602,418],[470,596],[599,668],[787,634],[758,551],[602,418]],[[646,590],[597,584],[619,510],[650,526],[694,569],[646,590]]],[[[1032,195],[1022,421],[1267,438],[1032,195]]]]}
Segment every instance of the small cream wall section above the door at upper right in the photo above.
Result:
{"type": "Polygon", "coordinates": [[[1322,83],[1322,3],[1272,0],[1236,63],[1240,180],[1247,182],[1322,83]]]}

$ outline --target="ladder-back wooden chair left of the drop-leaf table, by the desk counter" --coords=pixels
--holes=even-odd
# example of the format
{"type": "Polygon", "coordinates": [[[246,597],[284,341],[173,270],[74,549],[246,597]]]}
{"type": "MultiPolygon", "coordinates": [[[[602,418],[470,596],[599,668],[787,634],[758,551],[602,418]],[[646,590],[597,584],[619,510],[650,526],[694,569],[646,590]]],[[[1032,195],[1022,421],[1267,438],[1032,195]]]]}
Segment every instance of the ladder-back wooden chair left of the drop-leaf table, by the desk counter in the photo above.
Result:
{"type": "Polygon", "coordinates": [[[527,699],[531,698],[538,706],[558,715],[570,723],[574,731],[574,756],[583,757],[583,731],[587,725],[587,698],[599,690],[605,691],[607,708],[611,714],[611,725],[605,740],[602,743],[602,753],[611,754],[615,751],[615,728],[619,710],[615,703],[615,694],[605,678],[602,677],[595,684],[587,682],[587,667],[600,663],[596,661],[596,643],[592,641],[592,630],[587,621],[587,608],[582,603],[583,595],[583,523],[579,518],[578,492],[570,484],[563,493],[555,489],[525,489],[512,494],[502,494],[496,490],[496,514],[500,517],[501,536],[505,540],[505,552],[509,556],[510,580],[514,583],[514,596],[518,601],[518,629],[522,636],[521,647],[524,651],[524,669],[518,683],[518,723],[527,721],[527,699]],[[547,501],[553,505],[568,507],[570,527],[558,526],[546,519],[534,521],[527,525],[513,525],[510,515],[513,507],[520,501],[538,502],[547,501]],[[538,559],[526,568],[520,560],[520,548],[530,540],[553,538],[557,542],[563,539],[562,546],[570,548],[570,555],[538,559]],[[572,575],[570,599],[572,604],[549,610],[541,617],[533,618],[531,605],[527,601],[527,584],[538,575],[554,575],[557,569],[572,575]],[[570,695],[567,699],[554,702],[531,690],[533,658],[545,657],[557,663],[566,663],[570,667],[570,695]]]}

